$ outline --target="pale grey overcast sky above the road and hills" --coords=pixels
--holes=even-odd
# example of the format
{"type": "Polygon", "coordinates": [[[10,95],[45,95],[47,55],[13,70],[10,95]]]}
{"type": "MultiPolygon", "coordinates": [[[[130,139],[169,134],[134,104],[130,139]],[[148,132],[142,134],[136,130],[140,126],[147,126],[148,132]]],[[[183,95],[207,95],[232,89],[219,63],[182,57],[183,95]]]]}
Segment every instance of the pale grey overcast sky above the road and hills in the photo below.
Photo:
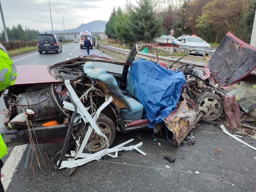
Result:
{"type": "MultiPolygon", "coordinates": [[[[7,27],[20,23],[22,27],[38,29],[39,31],[52,30],[48,0],[0,0],[7,27]]],[[[136,0],[131,0],[136,3],[136,0]]],[[[56,12],[68,12],[64,20],[74,20],[74,28],[82,23],[94,20],[107,21],[115,6],[124,7],[126,0],[50,0],[53,29],[63,30],[62,15],[56,12]]],[[[69,28],[65,22],[65,28],[69,28]]],[[[71,26],[72,28],[72,26],[71,26]]],[[[3,29],[2,20],[0,29],[3,29]]]]}

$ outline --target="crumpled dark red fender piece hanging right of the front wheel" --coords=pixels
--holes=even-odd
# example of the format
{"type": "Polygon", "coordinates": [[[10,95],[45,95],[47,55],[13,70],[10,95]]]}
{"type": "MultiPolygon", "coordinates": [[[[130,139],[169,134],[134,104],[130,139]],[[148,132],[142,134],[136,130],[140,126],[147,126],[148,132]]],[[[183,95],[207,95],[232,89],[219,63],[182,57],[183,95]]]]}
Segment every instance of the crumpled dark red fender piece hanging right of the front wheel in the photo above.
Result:
{"type": "Polygon", "coordinates": [[[238,128],[241,121],[239,106],[236,102],[236,95],[224,95],[222,99],[229,126],[232,128],[238,128]]]}

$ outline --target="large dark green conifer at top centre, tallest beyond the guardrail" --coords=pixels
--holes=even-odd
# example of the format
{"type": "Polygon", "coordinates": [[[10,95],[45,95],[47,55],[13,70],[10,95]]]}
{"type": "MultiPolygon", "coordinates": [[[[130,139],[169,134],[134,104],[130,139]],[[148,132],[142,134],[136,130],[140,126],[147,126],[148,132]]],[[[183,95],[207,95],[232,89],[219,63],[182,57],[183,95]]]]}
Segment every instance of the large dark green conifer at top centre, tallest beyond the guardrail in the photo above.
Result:
{"type": "Polygon", "coordinates": [[[162,20],[153,11],[150,0],[139,0],[138,7],[131,11],[128,21],[130,35],[135,42],[149,42],[161,35],[162,20]]]}

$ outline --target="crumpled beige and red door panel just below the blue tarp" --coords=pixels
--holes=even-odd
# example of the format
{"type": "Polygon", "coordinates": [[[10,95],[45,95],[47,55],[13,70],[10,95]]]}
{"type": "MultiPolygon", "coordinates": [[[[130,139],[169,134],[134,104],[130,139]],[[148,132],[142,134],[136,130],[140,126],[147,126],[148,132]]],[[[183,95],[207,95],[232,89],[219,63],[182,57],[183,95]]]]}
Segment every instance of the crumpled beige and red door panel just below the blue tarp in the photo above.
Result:
{"type": "Polygon", "coordinates": [[[202,117],[202,113],[200,113],[194,101],[187,94],[182,94],[182,97],[184,100],[179,108],[163,119],[166,127],[173,132],[177,146],[181,144],[189,131],[196,126],[196,123],[202,117]]]}

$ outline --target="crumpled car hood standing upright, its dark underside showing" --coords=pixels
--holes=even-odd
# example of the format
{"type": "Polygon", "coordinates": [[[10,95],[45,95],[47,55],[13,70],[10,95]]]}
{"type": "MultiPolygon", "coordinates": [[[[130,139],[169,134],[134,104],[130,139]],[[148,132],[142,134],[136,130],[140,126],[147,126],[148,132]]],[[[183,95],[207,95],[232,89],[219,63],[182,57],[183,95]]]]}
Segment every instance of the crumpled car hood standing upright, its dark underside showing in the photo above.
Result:
{"type": "Polygon", "coordinates": [[[210,78],[228,88],[256,67],[256,48],[228,32],[206,65],[210,78]]]}

